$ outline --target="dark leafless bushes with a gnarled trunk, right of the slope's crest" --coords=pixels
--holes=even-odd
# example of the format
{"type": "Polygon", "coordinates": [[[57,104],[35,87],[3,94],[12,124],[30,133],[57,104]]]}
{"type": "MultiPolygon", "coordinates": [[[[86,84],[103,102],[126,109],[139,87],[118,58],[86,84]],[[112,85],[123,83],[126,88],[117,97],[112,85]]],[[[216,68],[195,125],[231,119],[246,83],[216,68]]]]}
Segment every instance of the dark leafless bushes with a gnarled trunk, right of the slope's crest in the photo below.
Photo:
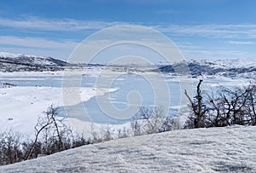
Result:
{"type": "Polygon", "coordinates": [[[191,113],[185,128],[223,127],[231,124],[256,124],[256,85],[227,89],[219,87],[217,92],[201,94],[201,83],[197,85],[197,93],[189,99],[191,113]]]}

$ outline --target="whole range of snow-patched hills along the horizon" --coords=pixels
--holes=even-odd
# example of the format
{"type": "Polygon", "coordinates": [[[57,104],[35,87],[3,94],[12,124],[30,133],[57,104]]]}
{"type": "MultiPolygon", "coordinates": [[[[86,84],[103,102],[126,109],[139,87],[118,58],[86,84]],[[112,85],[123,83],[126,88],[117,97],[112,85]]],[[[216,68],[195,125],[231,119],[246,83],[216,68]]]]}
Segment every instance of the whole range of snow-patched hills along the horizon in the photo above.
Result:
{"type": "MultiPolygon", "coordinates": [[[[102,66],[85,65],[85,64],[70,64],[66,61],[56,60],[51,57],[43,57],[38,55],[10,54],[0,52],[0,72],[43,72],[43,71],[60,71],[65,66],[82,67],[82,66],[102,66]]],[[[251,78],[256,76],[256,61],[252,60],[190,60],[177,62],[172,65],[158,64],[155,66],[132,66],[133,71],[155,71],[155,68],[160,72],[166,73],[181,73],[189,66],[189,72],[193,77],[201,74],[205,75],[220,75],[224,77],[243,77],[251,78]],[[148,70],[147,70],[148,69],[148,70]]],[[[130,65],[109,66],[113,71],[127,70],[130,65]]],[[[158,71],[157,70],[157,71],[158,71]]],[[[186,71],[188,72],[188,71],[186,71]]]]}

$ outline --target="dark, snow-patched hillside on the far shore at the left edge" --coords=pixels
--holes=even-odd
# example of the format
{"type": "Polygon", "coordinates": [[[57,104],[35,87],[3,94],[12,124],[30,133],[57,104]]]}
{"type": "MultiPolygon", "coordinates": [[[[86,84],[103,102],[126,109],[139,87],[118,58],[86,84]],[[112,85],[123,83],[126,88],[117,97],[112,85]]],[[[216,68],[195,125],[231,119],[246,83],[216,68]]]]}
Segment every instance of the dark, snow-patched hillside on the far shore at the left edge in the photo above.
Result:
{"type": "Polygon", "coordinates": [[[0,72],[59,71],[66,65],[51,57],[0,52],[0,72]]]}

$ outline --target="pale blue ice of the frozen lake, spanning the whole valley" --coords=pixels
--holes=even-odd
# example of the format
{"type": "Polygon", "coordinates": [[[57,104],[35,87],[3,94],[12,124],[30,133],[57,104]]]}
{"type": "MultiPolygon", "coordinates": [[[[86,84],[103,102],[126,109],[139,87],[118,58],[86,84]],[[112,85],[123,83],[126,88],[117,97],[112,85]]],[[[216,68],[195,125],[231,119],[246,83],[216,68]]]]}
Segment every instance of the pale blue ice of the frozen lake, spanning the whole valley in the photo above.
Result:
{"type": "MultiPolygon", "coordinates": [[[[131,115],[124,115],[122,112],[127,112],[128,108],[137,110],[140,106],[144,107],[154,107],[155,100],[159,100],[157,96],[159,95],[169,95],[169,97],[163,98],[163,101],[168,98],[168,116],[176,116],[178,107],[186,107],[187,102],[181,101],[181,95],[183,95],[183,88],[181,84],[186,85],[186,81],[189,78],[184,78],[184,81],[179,81],[177,77],[172,75],[165,75],[164,82],[167,84],[168,92],[163,88],[161,89],[160,78],[145,78],[142,74],[137,73],[119,73],[117,78],[106,74],[104,77],[97,75],[83,75],[81,76],[70,76],[71,80],[81,80],[81,88],[95,88],[96,89],[115,89],[113,92],[109,92],[105,95],[96,95],[90,97],[87,101],[81,101],[77,104],[66,106],[65,110],[68,112],[70,118],[77,118],[81,121],[93,121],[99,124],[123,124],[131,120],[131,115]],[[102,80],[102,81],[101,81],[102,80]],[[106,83],[107,81],[107,83],[106,83]],[[111,85],[109,86],[109,81],[111,85]],[[157,95],[155,93],[157,85],[158,91],[157,95]],[[132,95],[135,94],[135,95],[132,95]],[[139,101],[138,101],[139,100],[139,101]],[[110,107],[104,107],[111,102],[110,107]],[[120,112],[119,115],[111,117],[111,115],[120,112]]],[[[193,78],[193,88],[197,84],[199,79],[193,78]]],[[[61,74],[55,73],[44,73],[42,75],[27,73],[19,75],[19,73],[12,73],[11,75],[2,75],[0,77],[0,83],[10,83],[15,84],[18,87],[28,87],[32,89],[33,87],[42,87],[45,89],[56,88],[61,89],[62,87],[62,76],[61,74]]],[[[231,79],[231,78],[204,78],[203,88],[204,89],[216,89],[219,85],[224,86],[236,86],[237,84],[246,84],[246,79],[231,79]]],[[[189,83],[188,83],[189,84],[189,83]]],[[[61,92],[60,92],[61,95],[61,92]]],[[[81,95],[86,95],[86,93],[81,93],[81,95]]],[[[37,96],[37,95],[34,95],[37,96]]],[[[50,98],[53,104],[55,100],[50,98]]],[[[11,103],[9,103],[11,104],[11,103]]],[[[163,103],[164,104],[164,103],[163,103]]],[[[157,105],[159,107],[163,105],[157,105]]],[[[36,108],[36,107],[35,107],[36,108]]],[[[65,113],[64,107],[59,107],[61,113],[65,113]]]]}

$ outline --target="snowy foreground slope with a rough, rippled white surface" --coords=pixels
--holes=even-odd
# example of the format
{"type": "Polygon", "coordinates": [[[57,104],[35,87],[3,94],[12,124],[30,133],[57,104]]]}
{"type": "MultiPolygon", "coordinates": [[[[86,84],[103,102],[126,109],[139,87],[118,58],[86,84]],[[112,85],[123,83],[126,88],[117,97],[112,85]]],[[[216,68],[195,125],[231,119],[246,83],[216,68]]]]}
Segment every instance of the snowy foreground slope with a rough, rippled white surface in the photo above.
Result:
{"type": "Polygon", "coordinates": [[[256,127],[177,130],[88,145],[0,172],[255,172],[256,127]]]}

